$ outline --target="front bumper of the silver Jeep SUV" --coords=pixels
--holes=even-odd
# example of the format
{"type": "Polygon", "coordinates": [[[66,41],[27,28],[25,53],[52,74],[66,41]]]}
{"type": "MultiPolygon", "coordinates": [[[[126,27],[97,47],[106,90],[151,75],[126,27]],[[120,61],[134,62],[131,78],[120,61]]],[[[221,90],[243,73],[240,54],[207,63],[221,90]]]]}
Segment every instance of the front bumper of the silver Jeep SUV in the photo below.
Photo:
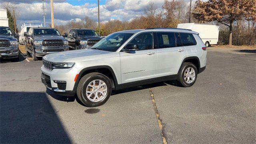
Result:
{"type": "Polygon", "coordinates": [[[42,66],[41,72],[42,83],[44,83],[46,88],[48,88],[52,92],[63,96],[74,96],[76,94],[74,79],[79,71],[74,66],[68,69],[53,70],[48,70],[44,68],[44,66],[42,66]],[[60,88],[60,85],[58,85],[58,82],[56,81],[66,81],[66,88],[60,88]]]}

